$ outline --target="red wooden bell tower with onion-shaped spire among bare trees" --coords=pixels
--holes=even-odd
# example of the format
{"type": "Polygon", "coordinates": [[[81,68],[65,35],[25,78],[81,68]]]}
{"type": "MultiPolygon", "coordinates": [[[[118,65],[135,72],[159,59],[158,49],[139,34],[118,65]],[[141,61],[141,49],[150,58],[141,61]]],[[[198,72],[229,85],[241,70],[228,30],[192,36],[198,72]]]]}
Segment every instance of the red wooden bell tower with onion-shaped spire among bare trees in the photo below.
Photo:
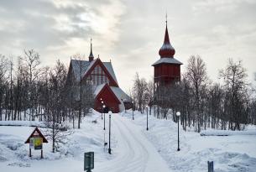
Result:
{"type": "Polygon", "coordinates": [[[159,50],[160,59],[157,60],[154,66],[154,88],[158,92],[159,87],[170,86],[174,81],[180,81],[180,65],[182,63],[174,58],[175,49],[170,44],[167,19],[165,26],[164,44],[159,50]]]}

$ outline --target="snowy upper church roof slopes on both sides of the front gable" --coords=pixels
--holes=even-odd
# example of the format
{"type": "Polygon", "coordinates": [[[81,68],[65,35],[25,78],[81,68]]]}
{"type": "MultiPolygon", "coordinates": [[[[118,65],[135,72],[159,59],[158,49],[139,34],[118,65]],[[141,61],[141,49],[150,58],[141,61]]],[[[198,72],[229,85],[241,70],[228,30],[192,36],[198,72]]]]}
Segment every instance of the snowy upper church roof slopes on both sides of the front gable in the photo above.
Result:
{"type": "MultiPolygon", "coordinates": [[[[94,65],[96,60],[92,60],[91,62],[86,60],[71,60],[71,65],[74,71],[74,75],[76,77],[76,81],[80,81],[81,78],[83,78],[83,76],[86,75],[86,73],[91,69],[91,66],[94,65]]],[[[118,83],[117,77],[112,68],[112,63],[111,62],[102,62],[102,63],[107,68],[107,71],[112,76],[114,81],[118,83]]]]}

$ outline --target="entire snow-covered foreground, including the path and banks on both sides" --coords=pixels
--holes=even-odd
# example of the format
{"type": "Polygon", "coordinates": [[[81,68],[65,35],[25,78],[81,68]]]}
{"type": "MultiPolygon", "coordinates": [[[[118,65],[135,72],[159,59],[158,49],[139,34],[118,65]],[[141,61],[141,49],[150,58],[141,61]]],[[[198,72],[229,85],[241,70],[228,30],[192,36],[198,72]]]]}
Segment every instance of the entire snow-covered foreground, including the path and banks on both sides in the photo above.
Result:
{"type": "MultiPolygon", "coordinates": [[[[39,151],[32,151],[24,141],[34,128],[27,122],[24,127],[0,126],[0,170],[13,171],[83,171],[83,154],[95,152],[93,172],[135,171],[207,171],[207,161],[214,161],[217,172],[256,171],[256,128],[229,136],[201,136],[200,133],[180,131],[180,151],[177,151],[177,123],[134,112],[112,115],[112,154],[103,148],[104,135],[108,142],[108,115],[106,131],[101,114],[94,112],[86,117],[81,129],[69,136],[70,142],[51,153],[51,143],[44,143],[44,159],[39,151]],[[243,133],[251,133],[244,135],[243,133]]],[[[3,122],[4,123],[4,122],[3,122]]],[[[7,122],[13,123],[13,122],[7,122]]],[[[22,123],[22,124],[21,124],[22,123]]],[[[1,123],[0,123],[1,124],[1,123]]],[[[40,128],[45,133],[45,128],[40,128]]],[[[210,131],[206,135],[214,135],[210,131]]]]}

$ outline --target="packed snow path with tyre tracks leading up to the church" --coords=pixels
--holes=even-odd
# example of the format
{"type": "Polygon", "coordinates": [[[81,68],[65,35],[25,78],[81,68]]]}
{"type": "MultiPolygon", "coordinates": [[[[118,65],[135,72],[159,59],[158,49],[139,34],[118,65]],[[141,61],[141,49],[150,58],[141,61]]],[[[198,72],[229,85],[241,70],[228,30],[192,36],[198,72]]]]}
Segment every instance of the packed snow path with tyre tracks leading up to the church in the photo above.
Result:
{"type": "Polygon", "coordinates": [[[113,114],[112,134],[118,140],[117,147],[112,150],[117,156],[107,162],[97,164],[93,171],[170,172],[165,160],[160,157],[152,143],[145,138],[141,128],[130,122],[130,119],[113,114]]]}

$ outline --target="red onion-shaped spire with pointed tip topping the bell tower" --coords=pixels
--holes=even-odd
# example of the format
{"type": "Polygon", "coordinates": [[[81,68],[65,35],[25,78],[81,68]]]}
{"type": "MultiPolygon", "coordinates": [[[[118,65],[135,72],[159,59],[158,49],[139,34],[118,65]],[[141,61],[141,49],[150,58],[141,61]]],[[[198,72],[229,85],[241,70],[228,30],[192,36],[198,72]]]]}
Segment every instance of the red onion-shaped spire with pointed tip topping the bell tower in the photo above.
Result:
{"type": "Polygon", "coordinates": [[[166,27],[165,27],[165,40],[164,44],[162,45],[161,49],[159,50],[159,55],[161,58],[173,58],[175,55],[175,49],[170,44],[168,28],[167,28],[167,17],[166,17],[166,27]]]}

